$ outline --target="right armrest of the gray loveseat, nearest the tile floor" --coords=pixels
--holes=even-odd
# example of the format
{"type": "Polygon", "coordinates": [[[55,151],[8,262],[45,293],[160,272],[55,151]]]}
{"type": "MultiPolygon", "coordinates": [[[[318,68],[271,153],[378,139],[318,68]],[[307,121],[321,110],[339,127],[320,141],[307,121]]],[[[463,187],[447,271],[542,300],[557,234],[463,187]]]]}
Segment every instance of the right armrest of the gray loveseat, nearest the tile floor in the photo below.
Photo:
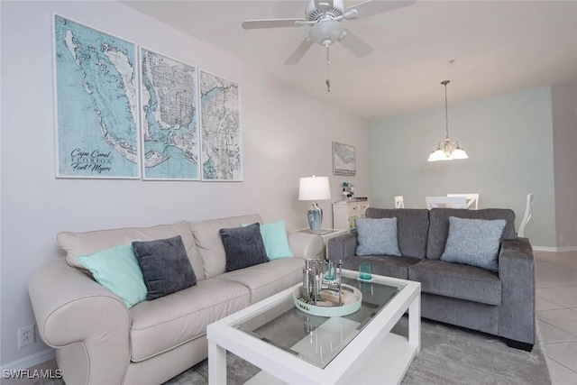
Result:
{"type": "Polygon", "coordinates": [[[499,279],[499,335],[535,344],[535,257],[527,238],[501,243],[499,279]]]}

